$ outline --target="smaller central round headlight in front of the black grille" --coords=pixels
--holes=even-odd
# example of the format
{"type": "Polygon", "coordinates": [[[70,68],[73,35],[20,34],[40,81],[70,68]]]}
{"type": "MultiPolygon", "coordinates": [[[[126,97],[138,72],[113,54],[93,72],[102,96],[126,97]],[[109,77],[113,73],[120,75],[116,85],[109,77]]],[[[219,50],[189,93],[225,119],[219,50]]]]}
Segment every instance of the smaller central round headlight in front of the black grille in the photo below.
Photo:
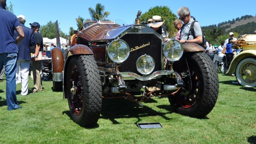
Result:
{"type": "Polygon", "coordinates": [[[143,55],[138,58],[136,62],[137,70],[141,74],[149,74],[153,72],[155,68],[155,61],[149,55],[143,55]]]}

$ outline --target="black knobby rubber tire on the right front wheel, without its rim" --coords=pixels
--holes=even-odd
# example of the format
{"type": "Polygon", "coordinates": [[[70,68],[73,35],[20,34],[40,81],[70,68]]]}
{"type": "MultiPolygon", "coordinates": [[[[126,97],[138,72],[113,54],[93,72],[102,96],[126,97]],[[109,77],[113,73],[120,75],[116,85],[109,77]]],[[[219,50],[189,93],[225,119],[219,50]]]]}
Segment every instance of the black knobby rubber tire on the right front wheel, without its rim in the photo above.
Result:
{"type": "MultiPolygon", "coordinates": [[[[177,99],[175,99],[175,95],[170,96],[169,101],[175,112],[190,117],[202,118],[210,113],[216,104],[219,93],[218,73],[214,67],[212,60],[208,57],[207,54],[199,52],[186,53],[186,55],[188,64],[198,66],[198,68],[196,69],[198,69],[198,71],[200,72],[199,79],[201,82],[201,86],[199,98],[197,99],[195,104],[189,108],[184,108],[180,106],[180,104],[178,104],[177,102],[177,99]]],[[[186,65],[185,61],[183,61],[182,64],[186,65]]],[[[179,70],[175,71],[179,72],[179,70]]]]}

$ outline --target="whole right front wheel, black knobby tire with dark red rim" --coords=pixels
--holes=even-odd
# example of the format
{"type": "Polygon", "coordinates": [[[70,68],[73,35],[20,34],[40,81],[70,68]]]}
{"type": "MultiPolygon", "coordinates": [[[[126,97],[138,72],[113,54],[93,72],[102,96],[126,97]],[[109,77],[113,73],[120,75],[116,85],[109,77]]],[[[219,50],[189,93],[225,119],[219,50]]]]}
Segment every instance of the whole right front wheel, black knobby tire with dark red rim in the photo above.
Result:
{"type": "Polygon", "coordinates": [[[186,53],[188,66],[184,56],[182,58],[173,68],[186,75],[182,78],[185,86],[178,93],[169,96],[170,104],[176,113],[196,118],[205,117],[212,111],[218,98],[218,73],[206,53],[186,53]]]}

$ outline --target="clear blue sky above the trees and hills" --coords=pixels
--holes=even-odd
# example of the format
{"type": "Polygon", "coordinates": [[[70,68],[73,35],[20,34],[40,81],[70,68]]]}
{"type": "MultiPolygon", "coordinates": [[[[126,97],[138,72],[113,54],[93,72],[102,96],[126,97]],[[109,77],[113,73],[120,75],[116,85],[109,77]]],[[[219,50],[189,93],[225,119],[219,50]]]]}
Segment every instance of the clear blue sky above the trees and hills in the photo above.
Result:
{"type": "Polygon", "coordinates": [[[236,0],[7,0],[7,5],[10,5],[10,2],[14,5],[13,11],[16,16],[26,17],[25,26],[29,27],[29,23],[33,22],[45,25],[49,21],[58,20],[61,31],[65,33],[68,33],[69,27],[77,29],[76,18],[78,16],[84,19],[90,18],[88,8],[95,9],[97,3],[104,5],[105,10],[110,12],[108,18],[121,19],[127,24],[134,22],[138,10],[141,10],[143,14],[157,5],[168,6],[176,15],[181,6],[187,6],[191,15],[196,17],[201,26],[218,24],[244,15],[256,15],[255,0],[246,0],[244,4],[244,1],[236,0]]]}

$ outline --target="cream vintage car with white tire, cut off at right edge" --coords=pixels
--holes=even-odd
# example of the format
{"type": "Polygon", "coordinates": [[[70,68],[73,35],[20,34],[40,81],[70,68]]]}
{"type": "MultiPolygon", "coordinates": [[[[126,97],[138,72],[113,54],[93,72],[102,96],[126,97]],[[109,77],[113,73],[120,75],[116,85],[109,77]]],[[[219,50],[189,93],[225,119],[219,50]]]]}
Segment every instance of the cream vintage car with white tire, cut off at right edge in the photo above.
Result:
{"type": "Polygon", "coordinates": [[[243,35],[232,42],[233,48],[243,49],[230,63],[227,73],[236,73],[239,84],[256,86],[256,35],[243,35]]]}

